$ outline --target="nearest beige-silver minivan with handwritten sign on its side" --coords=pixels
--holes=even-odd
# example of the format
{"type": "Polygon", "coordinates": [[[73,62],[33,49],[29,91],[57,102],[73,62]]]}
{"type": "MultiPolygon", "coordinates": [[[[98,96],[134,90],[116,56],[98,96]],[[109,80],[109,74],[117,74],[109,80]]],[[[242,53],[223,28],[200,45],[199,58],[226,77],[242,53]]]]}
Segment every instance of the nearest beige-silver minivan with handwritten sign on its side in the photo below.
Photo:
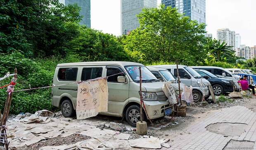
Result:
{"type": "MultiPolygon", "coordinates": [[[[107,77],[109,90],[108,112],[103,115],[126,117],[127,122],[136,127],[140,120],[140,73],[142,70],[142,98],[150,119],[169,115],[173,111],[165,96],[163,83],[156,80],[147,67],[141,63],[123,61],[81,62],[58,64],[53,77],[52,105],[60,107],[65,117],[71,117],[76,110],[77,84],[98,77],[107,77]],[[119,74],[118,74],[119,73],[119,74]]],[[[146,119],[145,112],[142,119],[146,119]]],[[[147,118],[148,119],[148,118],[147,118]]]]}

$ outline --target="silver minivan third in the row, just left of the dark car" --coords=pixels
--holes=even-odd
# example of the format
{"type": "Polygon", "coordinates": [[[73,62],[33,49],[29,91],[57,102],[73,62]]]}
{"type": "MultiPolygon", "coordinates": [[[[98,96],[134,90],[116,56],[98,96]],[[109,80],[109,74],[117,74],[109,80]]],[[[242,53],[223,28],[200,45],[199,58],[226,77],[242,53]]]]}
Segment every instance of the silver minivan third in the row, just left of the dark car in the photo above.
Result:
{"type": "MultiPolygon", "coordinates": [[[[170,71],[174,77],[177,77],[177,68],[176,65],[156,65],[152,67],[159,67],[159,68],[165,68],[168,71],[170,71]]],[[[180,75],[180,81],[187,85],[188,87],[193,87],[193,99],[194,102],[199,102],[202,99],[202,96],[204,94],[205,99],[208,99],[210,96],[209,92],[209,85],[210,82],[206,79],[202,79],[201,84],[201,75],[199,75],[194,69],[184,66],[184,65],[178,65],[179,68],[179,75],[180,75]]]]}

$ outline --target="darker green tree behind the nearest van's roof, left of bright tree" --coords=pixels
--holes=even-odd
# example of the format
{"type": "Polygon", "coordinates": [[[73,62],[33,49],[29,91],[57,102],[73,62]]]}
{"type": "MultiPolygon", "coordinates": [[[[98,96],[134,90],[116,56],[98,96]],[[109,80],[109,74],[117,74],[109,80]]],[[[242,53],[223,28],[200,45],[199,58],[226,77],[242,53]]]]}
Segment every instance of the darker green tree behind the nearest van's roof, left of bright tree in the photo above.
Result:
{"type": "Polygon", "coordinates": [[[79,34],[70,43],[72,54],[78,54],[83,61],[129,61],[128,54],[118,38],[108,33],[79,27],[79,34]]]}

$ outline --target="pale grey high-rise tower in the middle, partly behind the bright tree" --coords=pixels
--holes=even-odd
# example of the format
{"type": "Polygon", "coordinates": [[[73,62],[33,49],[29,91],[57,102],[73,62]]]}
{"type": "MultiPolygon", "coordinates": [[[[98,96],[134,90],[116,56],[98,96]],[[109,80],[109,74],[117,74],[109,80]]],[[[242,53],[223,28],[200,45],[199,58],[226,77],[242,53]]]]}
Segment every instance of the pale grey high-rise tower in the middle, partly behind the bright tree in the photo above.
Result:
{"type": "Polygon", "coordinates": [[[121,34],[127,35],[140,27],[137,14],[142,8],[157,7],[157,0],[121,0],[121,34]]]}

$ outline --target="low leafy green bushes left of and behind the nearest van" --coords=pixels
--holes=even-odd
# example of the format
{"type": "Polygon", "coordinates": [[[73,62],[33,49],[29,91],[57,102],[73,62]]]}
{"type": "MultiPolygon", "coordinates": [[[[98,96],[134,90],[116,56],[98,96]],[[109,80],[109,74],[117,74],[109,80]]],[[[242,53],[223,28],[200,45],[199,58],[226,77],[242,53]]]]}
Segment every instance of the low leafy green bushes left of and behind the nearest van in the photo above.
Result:
{"type": "MultiPolygon", "coordinates": [[[[48,59],[27,59],[19,52],[12,54],[0,54],[0,77],[8,71],[13,73],[17,68],[18,79],[15,90],[29,89],[35,87],[45,87],[52,84],[52,78],[58,63],[79,62],[79,57],[69,55],[64,58],[54,56],[48,59]]],[[[11,78],[0,81],[0,86],[9,84],[11,78]]],[[[38,110],[52,110],[51,88],[38,89],[31,91],[14,92],[10,113],[20,112],[34,113],[38,110]]],[[[3,110],[6,99],[6,88],[0,89],[0,109],[3,110]]]]}

